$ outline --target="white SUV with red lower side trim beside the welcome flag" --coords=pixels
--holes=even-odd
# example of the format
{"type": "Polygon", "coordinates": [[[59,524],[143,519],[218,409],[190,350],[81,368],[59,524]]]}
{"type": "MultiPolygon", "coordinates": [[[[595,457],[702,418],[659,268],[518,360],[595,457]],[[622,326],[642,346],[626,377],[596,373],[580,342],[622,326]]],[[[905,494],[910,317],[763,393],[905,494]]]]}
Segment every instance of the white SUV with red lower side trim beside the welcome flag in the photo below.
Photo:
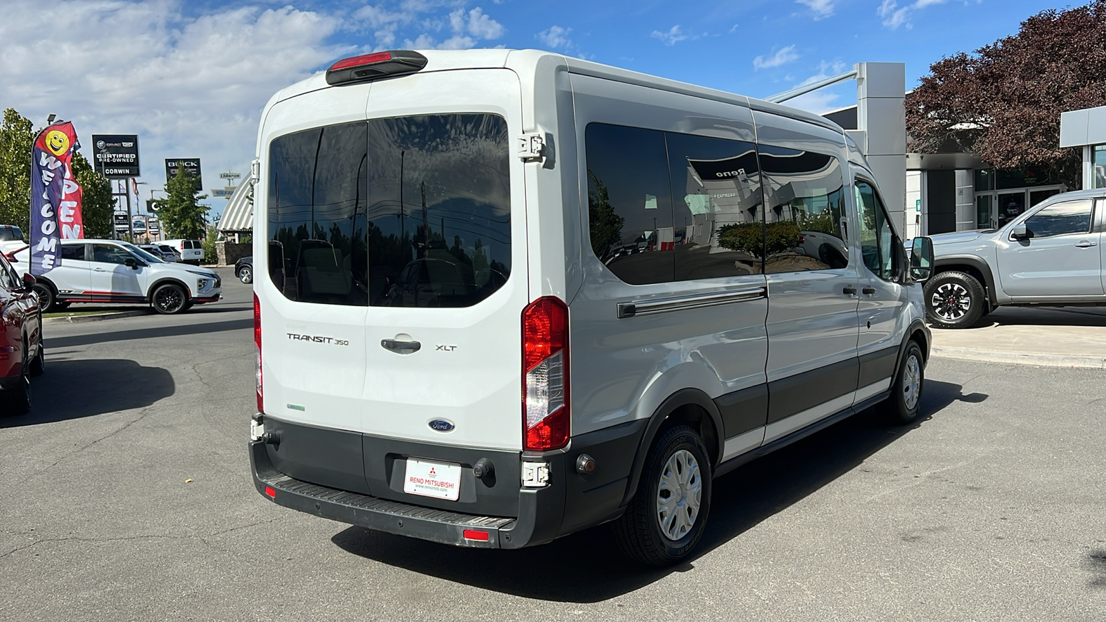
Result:
{"type": "MultiPolygon", "coordinates": [[[[61,265],[38,278],[43,311],[71,302],[137,302],[158,313],[179,313],[221,298],[219,274],[206,268],[167,263],[117,240],[63,240],[61,265]]],[[[30,248],[12,256],[30,266],[30,248]]]]}

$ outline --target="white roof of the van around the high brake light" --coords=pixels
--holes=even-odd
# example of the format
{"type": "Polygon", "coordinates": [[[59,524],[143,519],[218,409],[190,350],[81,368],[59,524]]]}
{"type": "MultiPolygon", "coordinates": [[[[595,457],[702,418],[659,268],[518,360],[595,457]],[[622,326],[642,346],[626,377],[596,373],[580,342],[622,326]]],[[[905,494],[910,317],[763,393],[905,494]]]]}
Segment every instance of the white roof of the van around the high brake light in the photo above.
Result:
{"type": "MultiPolygon", "coordinates": [[[[659,77],[647,73],[629,71],[611,65],[605,65],[602,63],[595,63],[592,61],[568,58],[563,54],[555,54],[553,52],[544,52],[541,50],[492,49],[492,50],[418,50],[418,53],[427,58],[427,65],[419,73],[429,71],[455,71],[461,69],[525,68],[531,70],[529,72],[530,74],[533,74],[533,71],[536,70],[536,66],[539,65],[542,59],[555,58],[568,68],[570,73],[576,73],[581,75],[592,75],[595,77],[614,80],[627,84],[637,84],[641,86],[648,86],[651,89],[660,89],[674,93],[682,93],[696,97],[703,97],[708,100],[714,100],[718,102],[737,104],[755,111],[770,112],[773,114],[779,114],[791,118],[814,123],[816,125],[828,127],[837,132],[842,133],[844,132],[839,125],[830,121],[828,118],[825,118],[824,116],[820,116],[806,111],[801,111],[797,108],[792,108],[780,104],[773,104],[771,102],[757,100],[754,97],[747,97],[744,95],[738,95],[735,93],[719,91],[717,89],[697,86],[695,84],[689,84],[687,82],[669,80],[667,77],[659,77]]],[[[335,61],[337,60],[338,59],[335,59],[335,61]]],[[[302,80],[300,82],[296,82],[295,84],[292,84],[290,86],[286,86],[278,91],[276,94],[273,95],[272,99],[269,101],[269,104],[265,107],[268,108],[273,104],[275,104],[276,102],[288,100],[296,95],[302,95],[304,93],[310,93],[312,91],[320,91],[322,89],[340,89],[340,87],[341,86],[328,85],[326,83],[326,72],[321,71],[315,75],[307,77],[306,80],[302,80]]]]}

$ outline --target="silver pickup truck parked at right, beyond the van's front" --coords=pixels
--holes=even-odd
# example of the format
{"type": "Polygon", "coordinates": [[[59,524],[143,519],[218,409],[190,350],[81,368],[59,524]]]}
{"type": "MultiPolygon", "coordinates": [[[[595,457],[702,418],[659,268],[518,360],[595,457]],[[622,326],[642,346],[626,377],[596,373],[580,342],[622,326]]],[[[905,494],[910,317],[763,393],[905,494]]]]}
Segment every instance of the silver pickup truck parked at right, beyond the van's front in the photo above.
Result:
{"type": "Polygon", "coordinates": [[[926,312],[962,329],[999,307],[1106,305],[1106,190],[1053,195],[1000,229],[932,236],[926,312]]]}

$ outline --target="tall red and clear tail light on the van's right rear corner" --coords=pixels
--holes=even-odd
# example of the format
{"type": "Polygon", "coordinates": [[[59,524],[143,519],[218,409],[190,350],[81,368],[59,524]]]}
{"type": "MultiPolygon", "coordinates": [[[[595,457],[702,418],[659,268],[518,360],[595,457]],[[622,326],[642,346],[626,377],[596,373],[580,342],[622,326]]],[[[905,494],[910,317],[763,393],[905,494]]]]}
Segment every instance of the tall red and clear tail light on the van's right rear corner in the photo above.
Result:
{"type": "Polygon", "coordinates": [[[568,444],[568,308],[554,297],[522,311],[522,447],[544,452],[568,444]]]}

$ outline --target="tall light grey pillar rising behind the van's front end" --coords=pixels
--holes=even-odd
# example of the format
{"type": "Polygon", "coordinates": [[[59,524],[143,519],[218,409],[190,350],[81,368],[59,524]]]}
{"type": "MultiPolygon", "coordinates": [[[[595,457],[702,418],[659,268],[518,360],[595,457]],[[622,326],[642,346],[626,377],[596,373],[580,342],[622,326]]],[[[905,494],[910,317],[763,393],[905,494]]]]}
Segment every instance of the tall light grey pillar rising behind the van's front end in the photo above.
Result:
{"type": "Polygon", "coordinates": [[[854,69],[856,123],[866,143],[860,149],[876,176],[895,229],[906,235],[906,64],[857,63],[854,69]]]}

